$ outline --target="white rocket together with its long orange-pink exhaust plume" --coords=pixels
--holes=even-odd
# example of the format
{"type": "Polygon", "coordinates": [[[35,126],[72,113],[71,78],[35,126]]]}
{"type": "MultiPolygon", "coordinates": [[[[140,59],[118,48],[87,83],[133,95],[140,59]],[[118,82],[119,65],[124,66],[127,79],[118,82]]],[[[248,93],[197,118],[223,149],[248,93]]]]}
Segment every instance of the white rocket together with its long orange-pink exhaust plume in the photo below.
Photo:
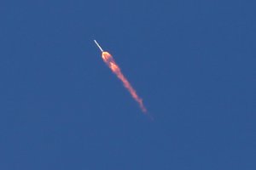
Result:
{"type": "Polygon", "coordinates": [[[94,42],[96,43],[97,47],[100,48],[100,50],[102,51],[102,59],[104,60],[104,62],[108,65],[108,67],[111,69],[111,71],[113,71],[113,73],[119,78],[119,80],[123,82],[125,88],[127,88],[129,93],[131,94],[131,97],[137,101],[137,103],[140,106],[140,108],[143,111],[143,113],[146,114],[147,113],[147,109],[143,105],[143,99],[141,99],[137,95],[135,89],[132,88],[131,83],[128,82],[128,80],[125,78],[125,76],[123,75],[123,73],[121,72],[121,70],[119,68],[119,65],[117,65],[115,63],[112,55],[109,54],[106,51],[103,51],[102,47],[99,45],[98,42],[96,42],[96,40],[94,40],[94,42]]]}

